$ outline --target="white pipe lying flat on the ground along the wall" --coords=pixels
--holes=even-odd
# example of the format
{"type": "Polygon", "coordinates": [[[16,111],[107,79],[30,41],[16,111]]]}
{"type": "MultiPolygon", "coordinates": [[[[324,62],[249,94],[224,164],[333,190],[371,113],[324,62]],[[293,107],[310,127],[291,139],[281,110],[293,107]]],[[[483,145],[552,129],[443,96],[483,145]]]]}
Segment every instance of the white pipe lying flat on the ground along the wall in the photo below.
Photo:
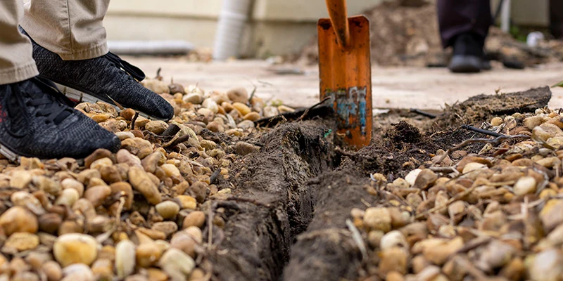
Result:
{"type": "Polygon", "coordinates": [[[118,55],[185,55],[194,45],[182,40],[108,41],[108,48],[118,55]]]}

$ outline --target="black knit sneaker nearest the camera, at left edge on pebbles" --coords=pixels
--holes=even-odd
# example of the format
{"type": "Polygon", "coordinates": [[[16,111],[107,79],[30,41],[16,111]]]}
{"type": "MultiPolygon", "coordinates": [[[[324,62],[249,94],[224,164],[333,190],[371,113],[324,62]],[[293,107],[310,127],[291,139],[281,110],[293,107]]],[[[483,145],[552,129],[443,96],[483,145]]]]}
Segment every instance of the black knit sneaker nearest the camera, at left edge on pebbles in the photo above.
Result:
{"type": "Polygon", "coordinates": [[[96,124],[46,79],[34,77],[0,85],[0,153],[20,156],[83,158],[98,148],[117,152],[117,136],[96,124]]]}

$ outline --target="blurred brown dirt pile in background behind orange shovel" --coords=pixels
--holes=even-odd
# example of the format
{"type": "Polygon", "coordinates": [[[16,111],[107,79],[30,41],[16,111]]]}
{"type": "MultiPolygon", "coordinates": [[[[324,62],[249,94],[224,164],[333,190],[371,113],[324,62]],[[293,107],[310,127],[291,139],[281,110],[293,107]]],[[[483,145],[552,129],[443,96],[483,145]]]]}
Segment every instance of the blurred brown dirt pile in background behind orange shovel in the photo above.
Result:
{"type": "MultiPolygon", "coordinates": [[[[445,66],[450,50],[443,51],[438,30],[436,1],[396,0],[365,11],[370,20],[372,62],[383,66],[445,66]]],[[[488,58],[508,67],[563,60],[563,42],[548,40],[531,48],[491,27],[486,42],[488,58]]],[[[301,63],[318,62],[317,38],[303,48],[301,63]]]]}

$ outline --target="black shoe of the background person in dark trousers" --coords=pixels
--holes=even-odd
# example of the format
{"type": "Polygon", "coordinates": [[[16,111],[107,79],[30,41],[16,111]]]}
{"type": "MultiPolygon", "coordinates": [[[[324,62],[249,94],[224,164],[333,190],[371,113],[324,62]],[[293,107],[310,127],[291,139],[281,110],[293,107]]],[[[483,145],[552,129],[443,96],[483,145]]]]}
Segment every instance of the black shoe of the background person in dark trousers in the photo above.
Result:
{"type": "Polygon", "coordinates": [[[453,55],[448,68],[455,73],[476,73],[491,69],[490,63],[483,60],[483,44],[475,34],[460,34],[453,44],[453,55]]]}

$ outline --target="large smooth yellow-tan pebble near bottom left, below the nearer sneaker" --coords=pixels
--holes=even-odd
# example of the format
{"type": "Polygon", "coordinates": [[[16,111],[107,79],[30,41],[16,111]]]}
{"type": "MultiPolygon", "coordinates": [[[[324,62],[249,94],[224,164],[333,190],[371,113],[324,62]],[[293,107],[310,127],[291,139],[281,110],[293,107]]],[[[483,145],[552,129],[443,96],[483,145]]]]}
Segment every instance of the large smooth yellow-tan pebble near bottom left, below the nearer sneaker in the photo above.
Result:
{"type": "Polygon", "coordinates": [[[61,235],[53,245],[53,255],[61,266],[72,263],[91,265],[96,260],[100,244],[94,237],[79,233],[61,235]]]}

